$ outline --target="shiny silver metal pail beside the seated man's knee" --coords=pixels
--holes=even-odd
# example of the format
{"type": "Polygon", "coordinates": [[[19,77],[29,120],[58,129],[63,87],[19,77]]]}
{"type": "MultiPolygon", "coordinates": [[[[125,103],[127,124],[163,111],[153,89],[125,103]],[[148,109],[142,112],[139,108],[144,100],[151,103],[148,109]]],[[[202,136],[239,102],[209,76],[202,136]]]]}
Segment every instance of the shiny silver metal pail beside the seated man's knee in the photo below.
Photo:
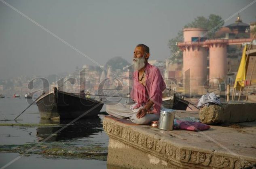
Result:
{"type": "Polygon", "coordinates": [[[158,121],[158,128],[161,130],[173,130],[174,112],[173,111],[160,111],[158,121]]]}

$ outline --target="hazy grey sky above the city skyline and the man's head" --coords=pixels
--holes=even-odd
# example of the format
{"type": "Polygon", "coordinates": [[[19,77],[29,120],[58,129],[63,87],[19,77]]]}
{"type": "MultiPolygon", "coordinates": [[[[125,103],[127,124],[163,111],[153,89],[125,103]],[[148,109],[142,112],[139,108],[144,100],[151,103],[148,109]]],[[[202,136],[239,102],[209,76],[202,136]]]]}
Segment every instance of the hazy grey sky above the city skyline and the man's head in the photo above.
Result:
{"type": "MultiPolygon", "coordinates": [[[[227,19],[253,0],[5,0],[49,31],[104,65],[114,56],[131,62],[138,43],[150,59],[170,56],[167,46],[197,16],[227,19]]],[[[256,21],[256,3],[240,12],[256,21]]],[[[225,25],[234,23],[236,17],[225,25]]],[[[73,72],[93,64],[0,1],[0,79],[73,72]]]]}

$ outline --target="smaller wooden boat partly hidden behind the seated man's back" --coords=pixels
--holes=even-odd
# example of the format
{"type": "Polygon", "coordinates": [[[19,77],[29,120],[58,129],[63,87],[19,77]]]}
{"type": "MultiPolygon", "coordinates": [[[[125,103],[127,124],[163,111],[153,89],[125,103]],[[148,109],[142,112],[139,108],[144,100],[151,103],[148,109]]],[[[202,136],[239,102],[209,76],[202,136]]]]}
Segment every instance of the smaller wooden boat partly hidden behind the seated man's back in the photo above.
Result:
{"type": "Polygon", "coordinates": [[[177,97],[175,94],[171,97],[164,97],[162,100],[163,107],[167,109],[186,110],[189,105],[188,101],[177,97]]]}

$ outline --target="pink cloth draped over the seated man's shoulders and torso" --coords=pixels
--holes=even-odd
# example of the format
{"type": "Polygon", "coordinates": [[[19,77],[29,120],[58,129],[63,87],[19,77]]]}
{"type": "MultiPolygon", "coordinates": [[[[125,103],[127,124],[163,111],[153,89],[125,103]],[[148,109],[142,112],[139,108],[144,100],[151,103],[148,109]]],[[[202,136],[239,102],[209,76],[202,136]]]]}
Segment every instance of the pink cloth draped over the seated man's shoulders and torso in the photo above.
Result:
{"type": "Polygon", "coordinates": [[[133,88],[131,89],[131,99],[137,103],[137,106],[134,108],[137,109],[146,104],[150,99],[154,102],[154,109],[152,112],[154,114],[159,114],[162,104],[162,92],[166,87],[160,70],[156,66],[152,66],[148,63],[146,64],[146,87],[140,84],[138,74],[138,70],[133,73],[133,88]]]}

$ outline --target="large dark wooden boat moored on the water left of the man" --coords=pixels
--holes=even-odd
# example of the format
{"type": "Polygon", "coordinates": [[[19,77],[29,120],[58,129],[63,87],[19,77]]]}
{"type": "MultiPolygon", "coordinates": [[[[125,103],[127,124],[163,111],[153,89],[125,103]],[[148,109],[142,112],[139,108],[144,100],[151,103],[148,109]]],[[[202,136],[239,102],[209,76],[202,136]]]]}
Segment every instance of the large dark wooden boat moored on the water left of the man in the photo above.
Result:
{"type": "Polygon", "coordinates": [[[50,119],[81,119],[96,117],[104,103],[80,97],[80,95],[59,91],[55,87],[53,91],[44,94],[36,101],[41,118],[50,119]]]}

